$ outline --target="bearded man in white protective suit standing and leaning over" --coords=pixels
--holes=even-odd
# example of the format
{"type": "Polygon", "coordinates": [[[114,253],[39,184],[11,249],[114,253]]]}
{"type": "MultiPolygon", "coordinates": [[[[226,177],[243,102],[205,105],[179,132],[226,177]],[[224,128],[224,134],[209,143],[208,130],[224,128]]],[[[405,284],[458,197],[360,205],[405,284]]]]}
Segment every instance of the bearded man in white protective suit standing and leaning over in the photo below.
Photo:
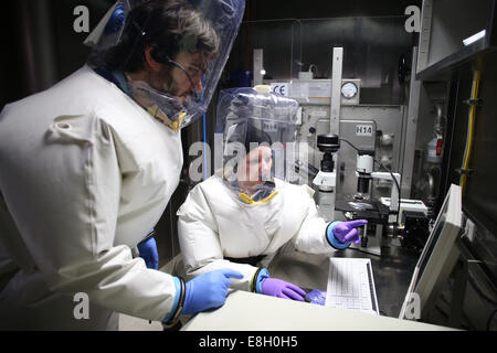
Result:
{"type": "Polygon", "coordinates": [[[86,65],[1,113],[0,329],[117,329],[117,312],[169,327],[222,306],[242,276],[186,282],[144,258],[179,182],[180,129],[207,110],[244,1],[133,2],[101,21],[86,65]]]}

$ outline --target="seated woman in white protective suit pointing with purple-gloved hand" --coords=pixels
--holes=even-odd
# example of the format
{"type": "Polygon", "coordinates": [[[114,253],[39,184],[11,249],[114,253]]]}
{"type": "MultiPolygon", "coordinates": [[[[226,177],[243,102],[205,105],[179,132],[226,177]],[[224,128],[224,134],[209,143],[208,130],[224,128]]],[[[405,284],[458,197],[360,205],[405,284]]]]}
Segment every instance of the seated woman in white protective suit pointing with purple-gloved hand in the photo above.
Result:
{"type": "Polygon", "coordinates": [[[195,185],[178,211],[187,276],[228,267],[243,274],[235,289],[303,301],[302,288],[269,276],[276,252],[288,242],[310,254],[360,242],[357,227],[366,220],[328,223],[314,191],[288,182],[297,108],[293,99],[251,88],[221,93],[223,168],[195,185]]]}

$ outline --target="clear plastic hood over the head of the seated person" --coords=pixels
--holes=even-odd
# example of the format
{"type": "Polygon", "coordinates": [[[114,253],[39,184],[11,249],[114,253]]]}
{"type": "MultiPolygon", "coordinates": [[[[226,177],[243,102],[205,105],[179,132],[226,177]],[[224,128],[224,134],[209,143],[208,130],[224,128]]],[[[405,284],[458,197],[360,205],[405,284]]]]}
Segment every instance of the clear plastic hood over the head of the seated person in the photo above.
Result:
{"type": "Polygon", "coordinates": [[[216,174],[242,201],[265,202],[275,179],[295,178],[298,103],[252,88],[224,89],[218,104],[218,133],[223,133],[223,168],[216,174]]]}

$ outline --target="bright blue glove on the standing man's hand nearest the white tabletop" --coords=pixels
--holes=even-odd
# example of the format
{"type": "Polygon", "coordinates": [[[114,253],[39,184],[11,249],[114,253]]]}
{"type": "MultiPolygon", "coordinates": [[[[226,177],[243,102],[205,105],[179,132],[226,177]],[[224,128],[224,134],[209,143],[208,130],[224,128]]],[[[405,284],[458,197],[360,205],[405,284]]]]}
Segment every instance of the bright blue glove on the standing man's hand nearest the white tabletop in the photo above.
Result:
{"type": "Polygon", "coordinates": [[[232,269],[218,269],[188,281],[182,313],[189,315],[223,306],[231,286],[230,278],[242,279],[243,275],[232,269]]]}

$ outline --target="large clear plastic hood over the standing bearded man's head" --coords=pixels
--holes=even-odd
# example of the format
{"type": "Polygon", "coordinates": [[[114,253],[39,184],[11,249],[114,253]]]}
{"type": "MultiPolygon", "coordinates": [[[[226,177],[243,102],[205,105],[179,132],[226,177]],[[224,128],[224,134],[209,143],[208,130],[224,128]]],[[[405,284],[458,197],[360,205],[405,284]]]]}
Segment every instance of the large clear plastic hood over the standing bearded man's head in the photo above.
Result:
{"type": "Polygon", "coordinates": [[[207,111],[244,8],[243,0],[118,1],[85,41],[87,64],[177,131],[207,111]]]}

